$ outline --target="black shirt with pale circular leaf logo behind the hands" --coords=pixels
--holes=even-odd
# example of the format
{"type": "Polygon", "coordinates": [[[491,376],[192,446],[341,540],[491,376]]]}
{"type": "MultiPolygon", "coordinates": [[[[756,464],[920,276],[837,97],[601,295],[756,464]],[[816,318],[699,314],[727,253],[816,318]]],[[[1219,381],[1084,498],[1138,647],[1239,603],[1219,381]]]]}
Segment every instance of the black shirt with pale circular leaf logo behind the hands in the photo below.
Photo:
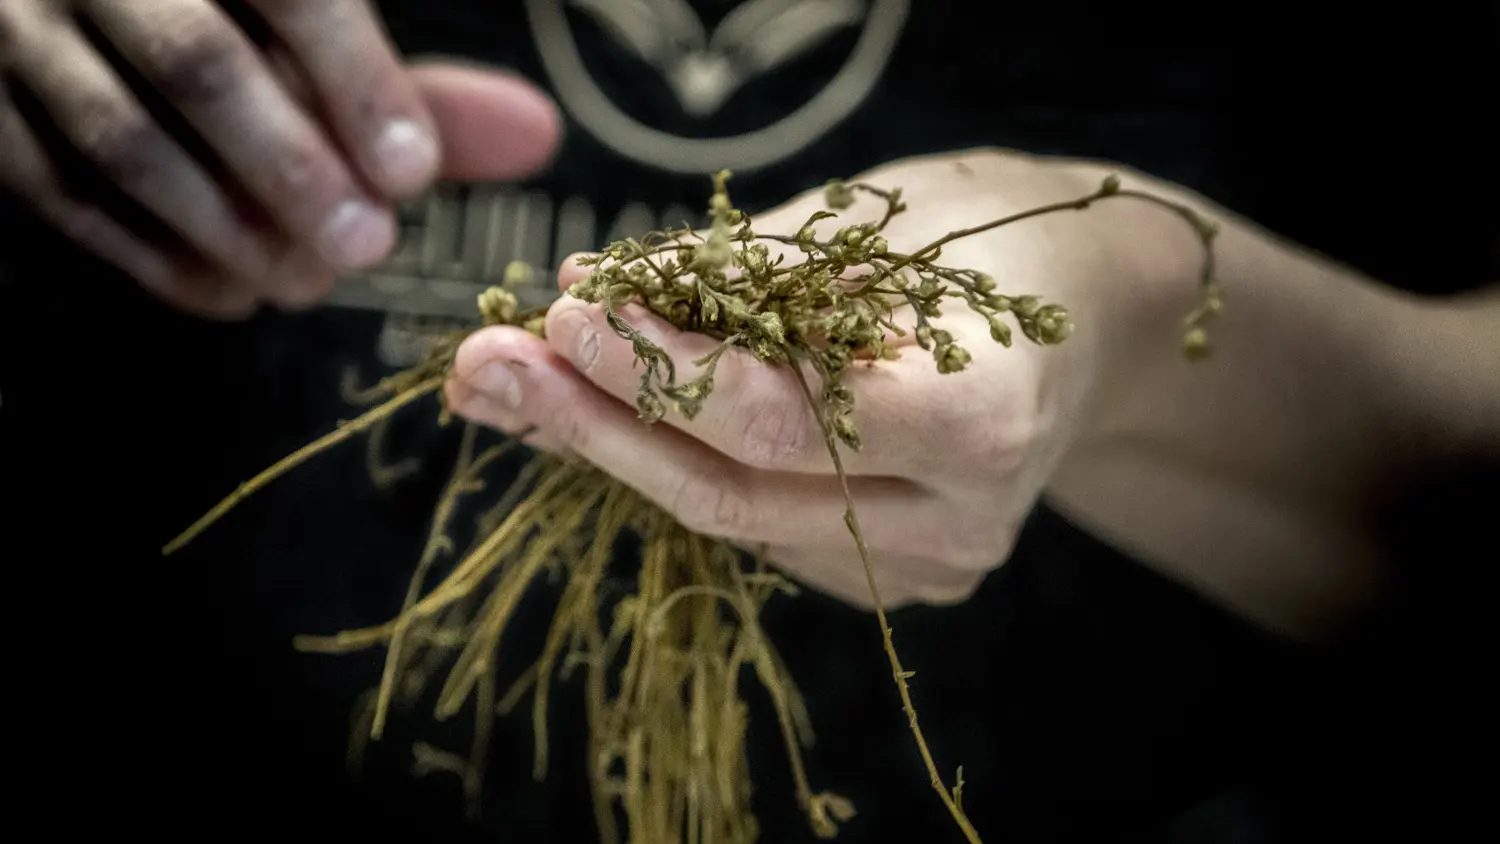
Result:
{"type": "MultiPolygon", "coordinates": [[[[0,448],[4,480],[27,480],[8,507],[38,514],[8,520],[0,552],[28,585],[24,615],[36,613],[12,694],[64,748],[45,754],[57,763],[48,781],[110,823],[592,838],[576,688],[558,694],[543,784],[530,783],[530,721],[496,724],[484,814],[465,826],[454,783],[411,775],[410,741],[460,748],[466,723],[404,718],[351,778],[348,714],[380,654],[291,649],[294,634],[375,624],[399,606],[456,447],[430,415],[393,429],[388,453],[422,469],[392,487],[372,484],[350,445],[180,558],[158,549],[352,415],[346,373],[369,382],[404,364],[422,327],[470,307],[464,285],[484,283],[502,258],[550,265],[696,216],[716,166],[736,169],[736,201],[756,210],[896,157],[1005,145],[1142,168],[1412,289],[1476,286],[1500,261],[1497,205],[1473,201],[1500,189],[1482,163],[1500,148],[1492,4],[1336,21],[1290,6],[699,1],[699,24],[718,37],[696,55],[681,18],[621,24],[561,0],[380,6],[408,54],[507,66],[556,91],[568,123],[550,171],[446,187],[447,199],[406,213],[390,267],[345,282],[330,307],[243,325],[177,316],[20,219],[0,255],[0,448]],[[748,6],[802,16],[758,30],[744,25],[748,6]],[[723,34],[734,31],[748,34],[723,34]]],[[[1456,501],[1472,505],[1466,495],[1456,501]]],[[[1428,510],[1401,525],[1444,525],[1438,538],[1452,541],[1448,525],[1478,522],[1428,510]]],[[[1408,532],[1430,556],[1432,534],[1408,532]]],[[[1473,606],[1462,595],[1474,592],[1444,588],[1462,570],[1422,571],[1413,595],[1473,606]]],[[[1042,507],[972,601],[902,612],[894,625],[934,753],[964,766],[988,841],[1282,841],[1358,838],[1426,807],[1392,754],[1430,750],[1401,736],[1431,735],[1438,720],[1390,700],[1416,682],[1458,697],[1432,688],[1455,681],[1424,643],[1474,645],[1455,627],[1462,612],[1442,633],[1416,612],[1392,612],[1404,627],[1372,634],[1378,649],[1305,652],[1042,507]],[[1404,778],[1374,790],[1388,775],[1404,778]]],[[[530,663],[548,616],[538,592],[507,634],[502,673],[530,663]]],[[[860,808],[842,840],[956,835],[912,751],[873,619],[802,597],[772,604],[766,624],[795,643],[783,649],[819,729],[814,781],[860,808]]],[[[764,703],[752,733],[764,840],[808,840],[764,703]]]]}

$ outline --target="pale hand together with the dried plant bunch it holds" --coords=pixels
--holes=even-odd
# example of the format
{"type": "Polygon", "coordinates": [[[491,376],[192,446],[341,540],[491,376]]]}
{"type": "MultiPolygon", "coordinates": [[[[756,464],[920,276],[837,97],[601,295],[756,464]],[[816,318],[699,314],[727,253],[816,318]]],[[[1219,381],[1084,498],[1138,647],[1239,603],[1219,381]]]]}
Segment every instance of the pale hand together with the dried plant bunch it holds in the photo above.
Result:
{"type": "MultiPolygon", "coordinates": [[[[620,798],[639,840],[658,841],[686,825],[704,835],[747,841],[753,838],[748,796],[730,786],[746,781],[744,718],[740,708],[726,703],[738,699],[734,678],[740,667],[753,664],[774,700],[798,802],[813,831],[831,837],[854,807],[837,795],[814,793],[796,750],[808,736],[806,718],[798,718],[796,691],[756,622],[760,604],[783,591],[784,582],[760,571],[759,564],[744,571],[724,540],[774,547],[794,574],[874,609],[932,786],[964,838],[978,844],[980,834],[963,811],[963,769],[950,787],[928,750],[908,685],[914,672],[897,655],[885,606],[891,600],[966,597],[988,561],[1004,558],[1014,522],[994,519],[993,507],[1016,520],[1029,508],[1050,465],[1070,444],[1088,439],[1092,426],[1080,420],[1107,418],[1096,415],[1100,388],[1116,379],[1113,367],[1130,369],[1119,363],[1131,357],[1122,354],[1126,346],[1120,342],[1142,334],[1142,325],[1160,316],[1160,307],[1140,307],[1143,297],[1134,295],[1130,283],[1131,274],[1149,276],[1158,268],[1154,261],[1122,259],[1132,253],[1130,240],[1106,237],[1104,249],[1089,249],[1088,241],[1066,237],[1066,229],[1044,226],[1032,229],[1024,244],[1002,247],[993,235],[1004,226],[1068,216],[1116,196],[1174,213],[1191,223],[1206,252],[1198,276],[1203,300],[1184,327],[1185,351],[1197,354],[1204,351],[1203,322],[1218,310],[1215,228],[1186,205],[1122,186],[1116,175],[1084,165],[1059,168],[980,154],[921,159],[870,175],[908,178],[918,186],[916,198],[946,210],[912,225],[892,225],[906,210],[902,189],[832,181],[820,195],[771,214],[772,225],[790,223],[782,231],[795,234],[765,234],[771,229],[752,228],[753,220],[734,207],[728,174],[718,174],[706,232],[651,232],[616,241],[600,256],[576,259],[561,282],[579,304],[520,312],[514,294],[484,291],[477,306],[489,330],[446,337],[429,360],[382,379],[372,391],[387,397],[382,405],[242,484],[165,552],[192,541],[244,496],[309,457],[446,387],[444,417],[456,409],[586,460],[532,460],[496,505],[498,522],[482,520],[483,538],[418,600],[428,567],[453,552],[447,525],[456,499],[483,489],[480,469],[506,448],[477,454],[474,427],[468,426],[400,615],[372,628],[298,639],[298,648],[320,652],[387,645],[386,670],[372,697],[370,736],[382,733],[396,679],[412,649],[456,646],[460,652],[440,693],[436,715],[453,717],[477,696],[474,759],[448,762],[464,772],[470,799],[478,795],[490,712],[508,711],[530,684],[536,684],[540,777],[546,769],[546,688],[568,649],[570,658],[588,664],[590,753],[597,765],[594,798],[602,834],[614,837],[610,802],[620,798]],[[1084,193],[1090,181],[1096,187],[1084,193]],[[1068,195],[1059,196],[1065,187],[1068,195]],[[879,204],[855,208],[861,196],[879,204]],[[868,216],[828,223],[838,216],[828,208],[868,216]],[[998,216],[944,231],[946,217],[972,220],[969,214],[984,210],[998,216]],[[970,240],[978,246],[963,246],[970,240]],[[972,264],[952,264],[951,256],[942,256],[945,249],[972,264]],[[580,267],[591,268],[579,273],[580,267]],[[1092,294],[1104,304],[1090,307],[1096,325],[1090,336],[1070,343],[1082,348],[1071,364],[1028,357],[1008,369],[982,351],[980,358],[968,351],[970,340],[981,340],[981,349],[1010,346],[1012,325],[1032,349],[1060,343],[1074,331],[1060,304],[1035,294],[1002,294],[990,270],[1044,279],[1034,289],[1071,294],[1089,292],[1084,288],[1098,283],[1106,268],[1124,276],[1118,289],[1130,292],[1092,294]],[[950,321],[951,312],[968,312],[969,318],[950,321]],[[680,361],[678,354],[698,355],[694,372],[688,373],[688,361],[680,361]],[[600,363],[610,355],[628,355],[633,364],[600,363]],[[927,372],[939,376],[975,375],[978,369],[981,378],[968,390],[945,391],[914,360],[926,360],[927,372]],[[886,367],[890,381],[873,381],[886,367]],[[998,390],[984,388],[984,375],[998,390]],[[630,379],[634,384],[627,388],[630,379]],[[632,393],[634,420],[620,402],[632,393]],[[714,393],[728,393],[728,403],[714,393]],[[876,397],[873,406],[867,394],[876,397]],[[716,405],[728,412],[714,415],[716,405]],[[669,408],[681,423],[654,429],[656,439],[642,436],[639,421],[663,421],[669,408]],[[866,423],[873,439],[862,432],[866,423]],[[960,450],[954,456],[924,447],[933,438],[960,450]],[[831,474],[820,469],[816,453],[828,457],[831,474]],[[975,504],[992,498],[992,510],[975,504]],[[872,532],[861,528],[866,505],[878,517],[870,520],[876,525],[872,532]],[[836,510],[842,510],[838,522],[848,531],[837,535],[854,540],[852,555],[838,555],[836,534],[806,519],[831,517],[836,510]],[[914,541],[892,526],[903,517],[928,519],[928,531],[914,541]],[[990,526],[994,522],[998,528],[990,526]],[[604,607],[598,583],[609,550],[624,534],[640,537],[642,568],[638,591],[604,613],[612,618],[606,630],[600,627],[604,607]],[[876,538],[874,555],[867,537],[876,538]],[[558,555],[570,577],[548,646],[532,670],[498,699],[489,667],[500,634],[525,586],[558,555]],[[852,556],[849,568],[862,574],[866,592],[854,588],[846,573],[816,565],[830,556],[852,556]],[[932,577],[933,568],[945,577],[932,577]],[[489,597],[471,615],[466,600],[480,592],[489,597]],[[722,603],[732,609],[729,616],[720,613],[722,603]],[[620,652],[626,646],[628,655],[620,652]],[[612,697],[608,673],[616,657],[624,664],[612,697]],[[610,774],[615,763],[624,763],[624,778],[610,774]],[[666,807],[686,816],[663,814],[666,807]]],[[[1128,225],[1142,219],[1106,222],[1106,234],[1128,231],[1148,243],[1158,240],[1128,225]]],[[[530,268],[513,265],[507,283],[513,274],[519,280],[530,268]]]]}

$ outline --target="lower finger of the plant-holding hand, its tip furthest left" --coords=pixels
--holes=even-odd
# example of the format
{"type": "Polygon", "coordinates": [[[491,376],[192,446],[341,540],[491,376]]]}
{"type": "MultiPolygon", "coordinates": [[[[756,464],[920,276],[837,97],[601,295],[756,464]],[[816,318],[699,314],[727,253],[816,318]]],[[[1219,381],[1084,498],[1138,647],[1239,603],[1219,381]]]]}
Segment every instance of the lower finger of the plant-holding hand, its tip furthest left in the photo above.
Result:
{"type": "MultiPolygon", "coordinates": [[[[645,426],[524,331],[480,331],[459,351],[454,370],[448,399],[456,412],[512,432],[536,424],[693,531],[796,546],[826,544],[844,531],[837,480],[750,469],[669,427],[645,426]]],[[[940,523],[946,508],[936,499],[904,481],[854,481],[872,547],[902,555],[934,547],[914,526],[940,523]]]]}

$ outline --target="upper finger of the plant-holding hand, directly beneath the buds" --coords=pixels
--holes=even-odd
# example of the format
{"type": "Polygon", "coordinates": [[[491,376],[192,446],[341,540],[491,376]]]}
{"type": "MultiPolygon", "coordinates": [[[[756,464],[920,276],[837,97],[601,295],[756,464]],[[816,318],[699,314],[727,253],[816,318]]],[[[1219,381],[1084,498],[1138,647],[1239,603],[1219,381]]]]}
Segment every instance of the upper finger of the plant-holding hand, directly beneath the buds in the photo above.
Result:
{"type": "MultiPolygon", "coordinates": [[[[561,280],[578,280],[580,268],[564,264],[561,280]]],[[[993,483],[1024,462],[1038,424],[1038,367],[1044,354],[1028,345],[1005,349],[988,324],[951,306],[940,327],[974,355],[964,372],[939,373],[932,352],[902,345],[897,360],[856,363],[843,376],[855,400],[852,421],[862,447],[843,448],[854,475],[892,475],[948,490],[975,478],[993,483]],[[982,420],[980,424],[975,420],[982,420]]],[[[678,331],[639,306],[621,310],[636,330],[663,348],[678,366],[678,379],[698,375],[693,364],[716,342],[678,331]]],[[[612,396],[634,402],[640,369],[627,340],[615,334],[598,306],[564,297],[548,315],[548,340],[591,381],[612,396]]],[[[808,373],[813,393],[818,376],[808,373]]],[[[666,421],[729,457],[772,471],[831,472],[818,418],[807,409],[796,376],[786,367],[756,361],[742,349],[723,355],[714,393],[693,420],[669,412],[666,421]]]]}

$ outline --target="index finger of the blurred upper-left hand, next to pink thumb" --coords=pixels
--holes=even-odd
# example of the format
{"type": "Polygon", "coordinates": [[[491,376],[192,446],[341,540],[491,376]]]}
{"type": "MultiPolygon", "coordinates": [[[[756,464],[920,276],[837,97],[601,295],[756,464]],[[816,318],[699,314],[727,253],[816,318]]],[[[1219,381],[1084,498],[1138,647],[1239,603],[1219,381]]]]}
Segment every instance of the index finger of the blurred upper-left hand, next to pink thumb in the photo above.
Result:
{"type": "Polygon", "coordinates": [[[306,70],[333,135],[387,196],[422,192],[438,174],[436,127],[364,0],[250,0],[306,70]]]}

